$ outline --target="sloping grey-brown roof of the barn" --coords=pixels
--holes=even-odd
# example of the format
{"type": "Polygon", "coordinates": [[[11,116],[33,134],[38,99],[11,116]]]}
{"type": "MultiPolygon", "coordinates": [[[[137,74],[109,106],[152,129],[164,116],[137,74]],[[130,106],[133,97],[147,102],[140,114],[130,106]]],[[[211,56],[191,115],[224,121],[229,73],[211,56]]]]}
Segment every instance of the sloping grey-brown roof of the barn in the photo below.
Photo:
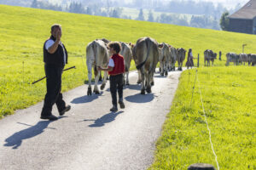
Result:
{"type": "Polygon", "coordinates": [[[229,16],[230,19],[247,19],[253,20],[256,17],[256,0],[250,0],[236,13],[229,16]]]}

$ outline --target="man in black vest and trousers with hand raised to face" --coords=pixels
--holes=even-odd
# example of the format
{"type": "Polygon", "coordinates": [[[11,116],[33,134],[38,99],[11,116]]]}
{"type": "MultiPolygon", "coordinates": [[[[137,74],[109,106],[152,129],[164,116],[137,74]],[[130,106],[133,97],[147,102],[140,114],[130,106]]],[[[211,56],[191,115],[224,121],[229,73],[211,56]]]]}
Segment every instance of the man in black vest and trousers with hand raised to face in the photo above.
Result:
{"type": "Polygon", "coordinates": [[[47,93],[40,118],[55,121],[58,118],[51,113],[54,104],[57,105],[60,116],[63,116],[71,107],[70,105],[66,106],[61,94],[61,75],[67,64],[67,50],[61,42],[61,25],[51,26],[50,33],[51,36],[44,42],[44,71],[47,93]]]}

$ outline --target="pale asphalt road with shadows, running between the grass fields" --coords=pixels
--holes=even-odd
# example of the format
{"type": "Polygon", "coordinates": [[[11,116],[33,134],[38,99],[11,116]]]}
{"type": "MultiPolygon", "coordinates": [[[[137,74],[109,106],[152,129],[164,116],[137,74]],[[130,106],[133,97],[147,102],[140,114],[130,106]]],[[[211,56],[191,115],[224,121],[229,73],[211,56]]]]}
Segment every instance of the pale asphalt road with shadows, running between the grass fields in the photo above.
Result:
{"type": "Polygon", "coordinates": [[[152,94],[142,95],[131,72],[125,109],[115,113],[109,82],[98,95],[86,96],[87,85],[63,94],[72,108],[55,122],[39,119],[43,102],[16,111],[0,121],[0,169],[147,169],[180,73],[155,74],[152,94]]]}

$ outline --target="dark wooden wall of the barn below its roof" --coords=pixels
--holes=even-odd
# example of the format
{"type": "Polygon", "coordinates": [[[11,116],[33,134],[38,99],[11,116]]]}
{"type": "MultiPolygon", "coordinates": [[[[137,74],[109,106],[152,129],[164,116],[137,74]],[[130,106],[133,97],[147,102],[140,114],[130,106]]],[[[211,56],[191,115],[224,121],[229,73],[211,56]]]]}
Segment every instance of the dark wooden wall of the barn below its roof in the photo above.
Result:
{"type": "Polygon", "coordinates": [[[230,19],[229,31],[253,34],[253,20],[230,19]]]}

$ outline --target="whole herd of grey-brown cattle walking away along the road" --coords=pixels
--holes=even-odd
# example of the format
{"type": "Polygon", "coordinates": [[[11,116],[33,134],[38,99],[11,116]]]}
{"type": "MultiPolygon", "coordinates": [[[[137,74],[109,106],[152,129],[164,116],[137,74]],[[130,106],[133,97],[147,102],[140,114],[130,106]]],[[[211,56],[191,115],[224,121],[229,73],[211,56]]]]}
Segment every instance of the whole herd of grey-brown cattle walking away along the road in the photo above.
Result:
{"type": "MultiPolygon", "coordinates": [[[[100,71],[98,66],[108,67],[108,59],[110,54],[108,52],[108,40],[105,38],[96,39],[90,42],[86,47],[86,65],[88,69],[89,87],[87,95],[91,95],[91,78],[92,69],[95,74],[95,86],[93,93],[99,94],[100,91],[97,87],[99,81],[100,71]]],[[[174,48],[165,42],[158,43],[151,37],[139,38],[136,44],[129,44],[120,42],[121,52],[125,59],[125,79],[126,85],[129,85],[129,70],[131,66],[131,59],[134,59],[135,65],[137,65],[138,80],[137,83],[141,83],[141,94],[151,93],[151,86],[154,85],[154,71],[158,62],[160,62],[160,75],[168,75],[168,71],[175,71],[175,63],[177,61],[178,71],[182,71],[183,61],[185,59],[186,50],[184,48],[174,48]]],[[[205,64],[210,65],[210,61],[216,59],[217,54],[213,53],[212,50],[205,51],[205,64]]],[[[235,62],[234,56],[236,54],[227,54],[227,63],[235,62]]],[[[240,59],[240,55],[236,57],[240,59]]],[[[245,56],[242,56],[244,61],[245,56]]],[[[256,63],[255,54],[248,54],[247,60],[253,65],[256,63]],[[251,60],[250,60],[251,59],[251,60]]],[[[108,72],[104,72],[101,89],[105,88],[107,82],[108,72]]]]}

